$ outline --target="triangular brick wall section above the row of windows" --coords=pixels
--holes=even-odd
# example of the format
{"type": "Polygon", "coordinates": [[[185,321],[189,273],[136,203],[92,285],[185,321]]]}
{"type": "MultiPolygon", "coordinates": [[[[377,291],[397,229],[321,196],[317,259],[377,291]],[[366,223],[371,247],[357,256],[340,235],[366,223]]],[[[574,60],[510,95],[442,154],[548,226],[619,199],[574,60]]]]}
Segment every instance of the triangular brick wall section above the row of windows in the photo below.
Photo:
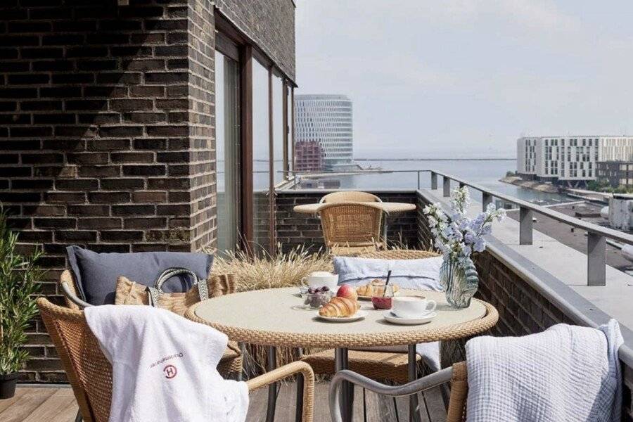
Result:
{"type": "Polygon", "coordinates": [[[279,68],[295,79],[293,0],[217,0],[217,8],[248,34],[279,68]]]}

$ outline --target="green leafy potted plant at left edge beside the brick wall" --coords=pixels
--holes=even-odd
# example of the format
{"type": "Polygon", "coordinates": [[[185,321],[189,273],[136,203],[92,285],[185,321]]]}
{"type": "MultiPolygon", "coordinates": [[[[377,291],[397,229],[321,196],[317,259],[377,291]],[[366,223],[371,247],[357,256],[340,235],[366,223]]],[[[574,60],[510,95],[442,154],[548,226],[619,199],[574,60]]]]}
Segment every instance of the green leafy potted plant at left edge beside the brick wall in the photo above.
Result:
{"type": "Polygon", "coordinates": [[[42,255],[18,253],[18,234],[7,226],[5,210],[0,210],[0,399],[15,394],[18,371],[29,354],[23,349],[25,331],[37,314],[34,295],[44,271],[37,267],[42,255]]]}

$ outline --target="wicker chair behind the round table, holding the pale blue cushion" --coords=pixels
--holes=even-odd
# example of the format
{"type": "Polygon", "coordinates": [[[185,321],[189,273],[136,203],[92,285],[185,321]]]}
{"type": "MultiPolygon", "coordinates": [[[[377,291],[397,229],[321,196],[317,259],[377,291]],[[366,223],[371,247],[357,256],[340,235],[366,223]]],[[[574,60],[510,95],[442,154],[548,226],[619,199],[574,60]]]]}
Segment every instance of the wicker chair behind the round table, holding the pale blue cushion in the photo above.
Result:
{"type": "MultiPolygon", "coordinates": [[[[376,258],[381,260],[422,260],[430,257],[440,256],[436,252],[429,250],[376,250],[359,255],[364,258],[376,258]]],[[[404,383],[408,380],[407,375],[407,347],[366,347],[364,350],[349,351],[349,365],[352,371],[381,381],[392,383],[404,383]],[[387,351],[389,350],[389,351],[387,351]],[[404,362],[402,367],[396,363],[404,362]],[[358,369],[354,369],[358,368],[358,369]]],[[[418,357],[419,358],[419,357],[418,357]]],[[[302,357],[302,361],[312,365],[314,373],[321,375],[331,375],[334,373],[334,352],[309,354],[302,357]],[[326,362],[329,361],[329,362],[326,362]]]]}

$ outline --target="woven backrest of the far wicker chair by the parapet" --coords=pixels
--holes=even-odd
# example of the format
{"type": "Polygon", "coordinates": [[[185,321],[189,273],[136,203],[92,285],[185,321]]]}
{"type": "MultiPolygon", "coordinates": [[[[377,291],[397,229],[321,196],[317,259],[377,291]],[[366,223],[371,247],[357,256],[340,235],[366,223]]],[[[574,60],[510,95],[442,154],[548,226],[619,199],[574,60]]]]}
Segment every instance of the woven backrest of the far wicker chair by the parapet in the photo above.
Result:
{"type": "Polygon", "coordinates": [[[359,203],[333,203],[319,208],[326,246],[373,245],[381,239],[380,207],[359,203]]]}

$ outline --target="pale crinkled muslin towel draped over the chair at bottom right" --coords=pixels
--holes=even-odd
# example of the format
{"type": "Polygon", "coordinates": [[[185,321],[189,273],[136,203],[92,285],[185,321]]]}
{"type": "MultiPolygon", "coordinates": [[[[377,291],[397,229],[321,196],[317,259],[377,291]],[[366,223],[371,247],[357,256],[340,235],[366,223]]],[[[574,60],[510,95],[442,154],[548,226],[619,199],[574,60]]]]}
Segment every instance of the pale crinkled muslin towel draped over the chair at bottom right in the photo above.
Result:
{"type": "Polygon", "coordinates": [[[466,343],[468,422],[619,422],[622,335],[557,324],[525,337],[466,343]]]}

